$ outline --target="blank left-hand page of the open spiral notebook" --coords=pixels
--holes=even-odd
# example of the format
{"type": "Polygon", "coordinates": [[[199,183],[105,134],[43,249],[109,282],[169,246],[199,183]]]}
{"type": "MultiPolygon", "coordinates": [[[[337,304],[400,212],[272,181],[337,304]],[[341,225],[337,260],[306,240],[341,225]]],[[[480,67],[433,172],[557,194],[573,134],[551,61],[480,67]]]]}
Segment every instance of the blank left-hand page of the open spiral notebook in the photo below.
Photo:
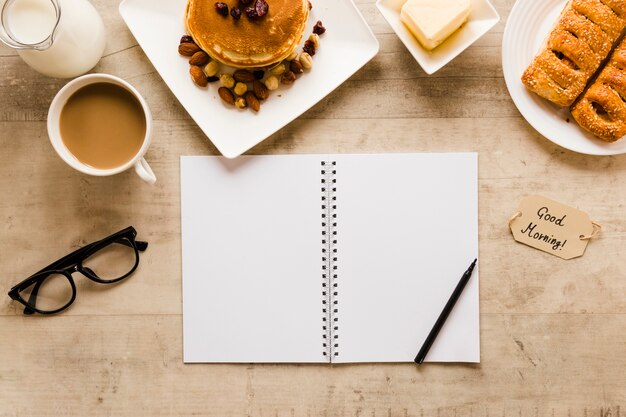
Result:
{"type": "Polygon", "coordinates": [[[185,362],[327,362],[322,159],[181,158],[185,362]]]}

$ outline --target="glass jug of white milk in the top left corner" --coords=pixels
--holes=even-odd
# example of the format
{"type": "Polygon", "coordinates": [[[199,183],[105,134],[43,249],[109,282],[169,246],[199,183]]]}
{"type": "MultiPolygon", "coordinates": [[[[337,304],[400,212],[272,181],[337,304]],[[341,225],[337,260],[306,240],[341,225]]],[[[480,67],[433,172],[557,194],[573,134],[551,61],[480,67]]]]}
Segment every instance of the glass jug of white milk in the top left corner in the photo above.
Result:
{"type": "Polygon", "coordinates": [[[37,72],[72,78],[102,57],[104,24],[88,0],[0,0],[0,6],[0,40],[37,72]]]}

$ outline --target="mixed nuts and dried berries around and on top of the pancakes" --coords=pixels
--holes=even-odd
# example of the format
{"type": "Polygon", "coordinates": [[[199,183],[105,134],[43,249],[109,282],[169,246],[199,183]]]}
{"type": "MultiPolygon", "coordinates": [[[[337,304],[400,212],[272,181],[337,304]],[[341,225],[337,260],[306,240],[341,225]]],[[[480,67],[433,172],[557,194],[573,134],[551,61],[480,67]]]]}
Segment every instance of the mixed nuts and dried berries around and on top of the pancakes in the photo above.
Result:
{"type": "MultiPolygon", "coordinates": [[[[254,18],[262,17],[267,13],[269,6],[265,0],[256,0],[254,4],[253,2],[254,0],[239,0],[238,4],[246,6],[244,9],[246,14],[248,14],[248,9],[253,9],[256,13],[254,18]]],[[[226,3],[215,3],[215,9],[223,16],[229,14],[226,3]]],[[[241,17],[240,8],[232,8],[230,15],[238,20],[241,17]]],[[[203,51],[189,35],[180,38],[178,53],[189,57],[189,74],[197,86],[206,87],[209,83],[219,81],[221,87],[217,89],[217,94],[224,103],[238,109],[249,107],[258,112],[261,109],[261,101],[269,98],[270,91],[278,89],[279,84],[293,84],[298,79],[298,75],[313,68],[313,55],[320,44],[319,35],[324,32],[326,28],[321,21],[317,21],[313,27],[313,33],[304,42],[301,53],[293,51],[284,61],[266,69],[238,69],[233,73],[220,74],[219,62],[212,60],[209,54],[203,51]]]]}

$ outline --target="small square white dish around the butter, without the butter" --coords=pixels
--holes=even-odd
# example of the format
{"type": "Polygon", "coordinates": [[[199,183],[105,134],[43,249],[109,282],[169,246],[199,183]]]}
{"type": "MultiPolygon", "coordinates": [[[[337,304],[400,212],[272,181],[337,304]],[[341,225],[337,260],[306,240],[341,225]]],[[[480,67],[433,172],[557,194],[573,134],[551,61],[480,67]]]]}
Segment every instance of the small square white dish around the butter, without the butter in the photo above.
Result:
{"type": "Polygon", "coordinates": [[[472,0],[467,22],[433,51],[428,51],[400,20],[400,9],[405,2],[378,0],[376,7],[426,74],[441,69],[500,21],[500,15],[488,0],[472,0]]]}

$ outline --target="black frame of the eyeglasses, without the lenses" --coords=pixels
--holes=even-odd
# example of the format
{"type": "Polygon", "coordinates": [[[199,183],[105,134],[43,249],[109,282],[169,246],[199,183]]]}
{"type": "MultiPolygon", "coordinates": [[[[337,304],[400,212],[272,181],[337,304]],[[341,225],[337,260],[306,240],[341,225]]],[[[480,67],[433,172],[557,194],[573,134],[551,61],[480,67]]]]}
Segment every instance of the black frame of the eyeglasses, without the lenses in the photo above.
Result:
{"type": "Polygon", "coordinates": [[[135,270],[139,266],[139,252],[143,252],[148,248],[148,242],[135,240],[136,236],[137,231],[135,230],[135,228],[129,226],[125,229],[120,230],[119,232],[113,233],[110,236],[83,246],[82,248],[75,250],[74,252],[64,256],[63,258],[51,263],[40,271],[34,273],[19,284],[14,285],[9,291],[9,297],[25,306],[24,314],[55,314],[63,311],[68,308],[74,302],[74,300],[76,300],[76,284],[74,283],[74,279],[72,278],[72,274],[74,272],[80,272],[86,278],[100,284],[116,283],[123,280],[124,278],[127,278],[129,275],[135,272],[135,270]],[[135,251],[135,264],[133,265],[131,270],[123,276],[111,280],[106,280],[100,278],[90,268],[83,266],[83,262],[94,253],[111,245],[112,243],[121,243],[127,246],[129,246],[130,243],[130,246],[135,251]],[[30,303],[37,298],[37,292],[39,290],[39,287],[51,274],[59,274],[65,276],[65,278],[69,281],[72,287],[72,297],[67,302],[67,304],[56,310],[39,310],[38,308],[33,307],[30,303]],[[33,288],[31,295],[28,298],[28,301],[24,300],[20,295],[20,291],[25,290],[33,284],[35,285],[35,287],[33,288]]]}

